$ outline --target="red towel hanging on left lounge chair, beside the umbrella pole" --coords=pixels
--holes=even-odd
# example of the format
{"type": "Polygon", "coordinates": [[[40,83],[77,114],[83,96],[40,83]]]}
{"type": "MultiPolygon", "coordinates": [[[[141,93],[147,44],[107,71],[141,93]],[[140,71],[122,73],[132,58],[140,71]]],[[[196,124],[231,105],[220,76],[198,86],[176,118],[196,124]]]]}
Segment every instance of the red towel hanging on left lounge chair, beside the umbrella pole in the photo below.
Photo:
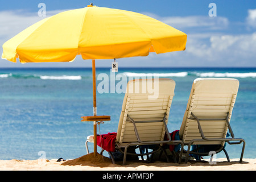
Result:
{"type": "Polygon", "coordinates": [[[108,152],[114,152],[116,139],[117,139],[117,133],[97,135],[97,146],[103,148],[108,152]]]}

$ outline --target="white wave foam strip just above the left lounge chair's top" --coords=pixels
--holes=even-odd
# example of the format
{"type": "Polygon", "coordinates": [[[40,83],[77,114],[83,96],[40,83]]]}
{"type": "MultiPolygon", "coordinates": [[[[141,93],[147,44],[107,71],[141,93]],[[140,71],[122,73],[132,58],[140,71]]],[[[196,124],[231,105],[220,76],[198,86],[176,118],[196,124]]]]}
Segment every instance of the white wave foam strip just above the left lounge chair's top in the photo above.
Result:
{"type": "Polygon", "coordinates": [[[133,72],[125,72],[123,73],[127,77],[185,77],[188,75],[188,72],[178,72],[178,73],[133,73],[133,72]]]}

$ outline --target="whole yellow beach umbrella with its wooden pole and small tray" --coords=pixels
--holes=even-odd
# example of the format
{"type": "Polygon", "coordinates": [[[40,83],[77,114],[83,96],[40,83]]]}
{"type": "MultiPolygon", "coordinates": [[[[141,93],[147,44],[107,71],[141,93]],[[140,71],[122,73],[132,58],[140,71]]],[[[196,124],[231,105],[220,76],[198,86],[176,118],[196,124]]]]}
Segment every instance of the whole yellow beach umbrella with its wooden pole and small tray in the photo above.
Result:
{"type": "Polygon", "coordinates": [[[77,55],[92,59],[94,156],[97,116],[96,59],[147,56],[149,52],[183,51],[187,35],[149,16],[89,5],[40,20],[3,44],[2,59],[20,63],[68,62],[77,55]]]}

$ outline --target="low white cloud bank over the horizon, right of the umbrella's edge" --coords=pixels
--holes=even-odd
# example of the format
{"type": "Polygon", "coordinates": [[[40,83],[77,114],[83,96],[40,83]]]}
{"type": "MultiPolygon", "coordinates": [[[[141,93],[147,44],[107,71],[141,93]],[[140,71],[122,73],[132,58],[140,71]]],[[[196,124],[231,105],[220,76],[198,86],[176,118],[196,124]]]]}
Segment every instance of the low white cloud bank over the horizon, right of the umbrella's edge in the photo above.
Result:
{"type": "Polygon", "coordinates": [[[243,35],[191,36],[186,51],[201,64],[256,66],[256,32],[243,35]],[[208,41],[205,41],[208,40],[208,41]]]}

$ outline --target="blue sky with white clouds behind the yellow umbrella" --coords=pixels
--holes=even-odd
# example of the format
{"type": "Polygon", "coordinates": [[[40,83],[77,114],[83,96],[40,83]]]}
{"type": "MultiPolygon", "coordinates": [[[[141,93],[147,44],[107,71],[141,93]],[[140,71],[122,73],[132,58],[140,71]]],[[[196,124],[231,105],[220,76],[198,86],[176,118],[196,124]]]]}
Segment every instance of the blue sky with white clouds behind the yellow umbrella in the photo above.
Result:
{"type": "MultiPolygon", "coordinates": [[[[118,59],[119,67],[256,67],[255,0],[0,0],[1,55],[3,43],[25,28],[61,11],[90,3],[142,13],[187,34],[185,51],[118,59]],[[39,3],[46,5],[46,16],[39,16],[42,12],[39,3]]],[[[110,68],[112,62],[97,60],[96,67],[110,68]]],[[[0,59],[0,68],[91,66],[92,61],[82,60],[81,56],[72,63],[20,64],[0,59]]]]}

